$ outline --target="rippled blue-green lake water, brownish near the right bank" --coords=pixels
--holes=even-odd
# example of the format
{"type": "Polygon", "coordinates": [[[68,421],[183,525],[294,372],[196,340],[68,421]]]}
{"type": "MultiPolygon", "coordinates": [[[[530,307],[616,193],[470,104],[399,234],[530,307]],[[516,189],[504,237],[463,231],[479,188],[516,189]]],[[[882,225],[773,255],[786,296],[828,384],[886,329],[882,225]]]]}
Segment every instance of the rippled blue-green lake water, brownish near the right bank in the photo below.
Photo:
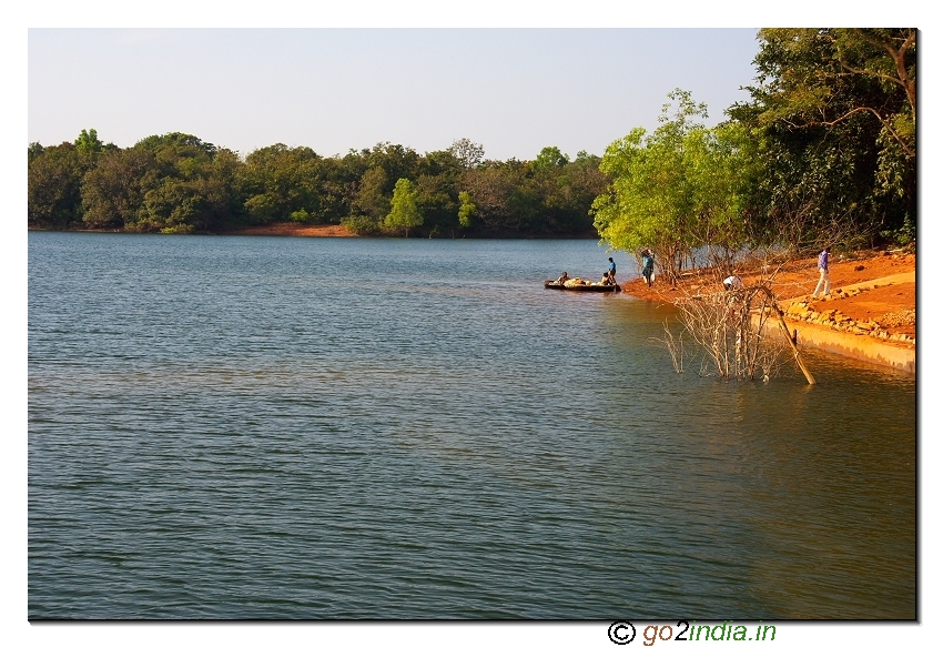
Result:
{"type": "Polygon", "coordinates": [[[676,374],[608,255],[30,233],[30,618],[914,618],[914,378],[676,374]]]}

